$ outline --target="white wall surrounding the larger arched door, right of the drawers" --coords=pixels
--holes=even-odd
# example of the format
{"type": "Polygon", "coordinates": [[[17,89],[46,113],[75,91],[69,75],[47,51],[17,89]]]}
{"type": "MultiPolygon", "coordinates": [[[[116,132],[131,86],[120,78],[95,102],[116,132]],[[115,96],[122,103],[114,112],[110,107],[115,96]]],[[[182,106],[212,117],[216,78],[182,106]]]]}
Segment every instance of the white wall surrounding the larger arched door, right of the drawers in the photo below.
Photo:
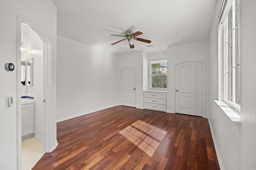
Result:
{"type": "Polygon", "coordinates": [[[206,117],[208,117],[208,87],[209,87],[209,45],[208,41],[194,42],[183,45],[170,46],[167,48],[167,111],[175,113],[175,65],[184,61],[204,61],[206,77],[206,117]]]}

